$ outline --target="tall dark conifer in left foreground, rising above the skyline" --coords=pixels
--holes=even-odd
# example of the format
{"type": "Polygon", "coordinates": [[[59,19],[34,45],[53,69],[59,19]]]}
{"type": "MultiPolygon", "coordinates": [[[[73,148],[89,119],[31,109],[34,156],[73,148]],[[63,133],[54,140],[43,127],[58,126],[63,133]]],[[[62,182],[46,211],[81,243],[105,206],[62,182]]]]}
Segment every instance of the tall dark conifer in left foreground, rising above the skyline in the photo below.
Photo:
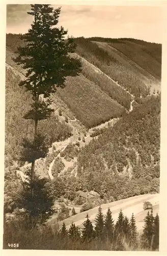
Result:
{"type": "MultiPolygon", "coordinates": [[[[50,5],[31,5],[28,14],[34,17],[31,29],[22,40],[25,44],[18,48],[18,57],[15,62],[22,64],[26,69],[26,79],[20,83],[32,94],[33,103],[31,110],[24,116],[35,122],[34,141],[31,147],[35,147],[38,137],[38,121],[50,116],[50,93],[57,87],[64,87],[66,76],[76,76],[80,71],[80,61],[70,57],[75,45],[73,39],[65,40],[67,31],[56,25],[59,21],[61,8],[53,9],[50,5]],[[43,97],[40,97],[43,95],[43,97]]],[[[29,143],[28,143],[29,144],[29,143]]],[[[34,196],[35,160],[39,154],[32,158],[31,169],[31,195],[34,196]]],[[[44,157],[44,156],[43,156],[44,157]]],[[[30,160],[29,158],[27,160],[30,160]]]]}

